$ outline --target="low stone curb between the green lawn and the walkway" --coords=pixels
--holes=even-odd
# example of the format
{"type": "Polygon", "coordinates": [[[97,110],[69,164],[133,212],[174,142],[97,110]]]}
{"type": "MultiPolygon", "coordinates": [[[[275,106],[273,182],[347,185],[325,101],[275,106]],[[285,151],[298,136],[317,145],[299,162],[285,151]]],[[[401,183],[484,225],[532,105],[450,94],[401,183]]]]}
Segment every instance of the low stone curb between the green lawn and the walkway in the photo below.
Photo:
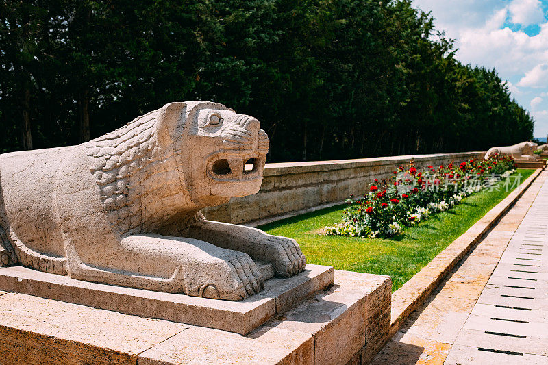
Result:
{"type": "Polygon", "coordinates": [[[491,229],[510,207],[531,186],[542,170],[536,170],[500,203],[495,205],[483,218],[479,219],[462,236],[438,253],[432,261],[416,273],[406,284],[393,292],[391,308],[391,325],[388,338],[391,338],[408,316],[414,312],[429,294],[440,284],[453,267],[470,251],[470,249],[491,229]]]}

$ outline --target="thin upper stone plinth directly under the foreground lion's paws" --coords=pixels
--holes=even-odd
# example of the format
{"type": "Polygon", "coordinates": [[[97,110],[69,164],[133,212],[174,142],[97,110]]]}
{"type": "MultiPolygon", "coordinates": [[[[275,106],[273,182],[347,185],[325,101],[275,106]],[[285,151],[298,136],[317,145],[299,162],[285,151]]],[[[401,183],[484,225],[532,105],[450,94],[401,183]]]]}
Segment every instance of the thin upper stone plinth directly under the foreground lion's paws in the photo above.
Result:
{"type": "Polygon", "coordinates": [[[294,277],[266,280],[262,292],[242,301],[223,301],[92,283],[12,266],[0,268],[0,290],[247,334],[333,284],[333,273],[331,266],[308,264],[294,277]]]}

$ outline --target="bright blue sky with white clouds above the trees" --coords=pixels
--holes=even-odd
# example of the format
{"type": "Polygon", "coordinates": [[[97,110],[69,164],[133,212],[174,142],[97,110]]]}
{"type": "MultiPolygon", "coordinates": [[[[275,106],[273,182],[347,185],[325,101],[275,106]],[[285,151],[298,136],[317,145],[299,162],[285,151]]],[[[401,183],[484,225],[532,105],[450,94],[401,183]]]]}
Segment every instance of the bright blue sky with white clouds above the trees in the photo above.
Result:
{"type": "Polygon", "coordinates": [[[456,40],[464,64],[495,68],[512,96],[548,134],[548,0],[413,0],[456,40]]]}

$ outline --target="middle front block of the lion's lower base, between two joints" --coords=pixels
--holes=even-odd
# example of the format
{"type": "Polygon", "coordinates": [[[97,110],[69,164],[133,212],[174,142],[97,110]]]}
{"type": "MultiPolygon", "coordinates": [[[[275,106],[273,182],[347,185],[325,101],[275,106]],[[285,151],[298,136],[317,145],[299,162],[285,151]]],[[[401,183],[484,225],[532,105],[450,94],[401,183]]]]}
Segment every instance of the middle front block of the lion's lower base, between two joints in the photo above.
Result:
{"type": "Polygon", "coordinates": [[[314,337],[271,327],[248,336],[190,327],[141,353],[138,364],[314,364],[314,337]]]}

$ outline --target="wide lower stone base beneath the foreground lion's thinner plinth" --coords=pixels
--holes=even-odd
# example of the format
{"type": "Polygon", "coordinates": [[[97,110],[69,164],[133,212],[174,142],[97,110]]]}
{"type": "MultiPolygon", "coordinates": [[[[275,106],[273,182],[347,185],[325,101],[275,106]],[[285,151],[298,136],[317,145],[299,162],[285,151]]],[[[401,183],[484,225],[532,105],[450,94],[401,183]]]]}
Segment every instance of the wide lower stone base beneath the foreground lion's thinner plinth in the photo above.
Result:
{"type": "Polygon", "coordinates": [[[365,364],[390,326],[390,287],[386,276],[336,270],[333,286],[245,336],[0,292],[0,362],[365,364]]]}

